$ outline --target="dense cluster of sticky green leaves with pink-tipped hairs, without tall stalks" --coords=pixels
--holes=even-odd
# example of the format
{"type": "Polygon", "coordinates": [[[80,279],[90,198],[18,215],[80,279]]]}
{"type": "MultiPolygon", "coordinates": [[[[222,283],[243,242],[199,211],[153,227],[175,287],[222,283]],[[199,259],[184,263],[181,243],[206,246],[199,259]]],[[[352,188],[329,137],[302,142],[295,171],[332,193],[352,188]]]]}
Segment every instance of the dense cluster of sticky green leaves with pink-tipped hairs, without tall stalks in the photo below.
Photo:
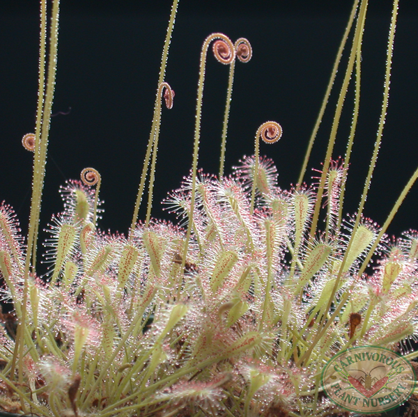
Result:
{"type": "Polygon", "coordinates": [[[24,303],[28,315],[20,375],[17,338],[0,329],[1,407],[55,417],[337,414],[319,384],[325,363],[353,343],[402,347],[417,331],[418,234],[374,249],[375,223],[341,222],[345,171],[334,163],[325,230],[312,237],[316,187],[281,190],[260,159],[253,210],[254,172],[249,157],[229,178],[200,174],[193,211],[186,179],[165,200],[180,226],[151,221],[129,238],[96,230],[93,189],[68,182],[46,242],[49,274],[31,276],[27,299],[22,237],[2,205],[3,298],[18,319],[24,303]],[[371,250],[379,258],[366,274],[371,250]]]}

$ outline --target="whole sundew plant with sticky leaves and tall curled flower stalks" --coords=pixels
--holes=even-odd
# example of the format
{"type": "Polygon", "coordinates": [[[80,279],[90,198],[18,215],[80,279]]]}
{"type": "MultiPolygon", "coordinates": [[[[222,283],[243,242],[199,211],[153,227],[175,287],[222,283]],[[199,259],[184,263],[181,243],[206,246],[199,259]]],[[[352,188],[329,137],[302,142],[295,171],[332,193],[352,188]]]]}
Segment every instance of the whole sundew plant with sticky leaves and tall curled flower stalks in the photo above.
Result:
{"type": "MultiPolygon", "coordinates": [[[[311,137],[304,150],[293,151],[297,158],[281,156],[301,165],[293,184],[283,184],[280,166],[262,155],[288,140],[280,111],[240,137],[251,150],[232,171],[226,166],[229,148],[237,143],[229,141],[235,135],[229,123],[233,97],[245,88],[234,79],[261,57],[251,39],[208,33],[196,56],[189,164],[177,189],[163,200],[168,212],[163,220],[153,214],[153,190],[169,132],[164,120],[182,95],[181,86],[170,84],[177,3],[155,77],[144,164],[127,173],[138,179],[132,216],[125,230],[115,233],[100,227],[107,215],[100,191],[107,183],[93,164],[63,183],[61,212],[48,226],[40,224],[41,209],[49,204],[42,199],[53,140],[49,130],[55,118],[68,116],[66,109],[52,110],[54,88],[59,89],[59,1],[40,1],[36,123],[22,138],[33,152],[27,235],[13,208],[7,202],[0,206],[1,293],[3,305],[13,306],[0,316],[0,407],[48,417],[342,415],[346,411],[327,399],[320,384],[335,354],[375,345],[411,361],[418,356],[412,346],[418,336],[418,232],[388,235],[418,168],[396,179],[392,208],[376,214],[380,224],[366,211],[385,146],[398,1],[392,14],[389,10],[386,33],[380,33],[387,45],[373,136],[357,134],[364,123],[362,45],[369,5],[356,0],[328,69],[330,81],[311,137]],[[217,168],[206,173],[199,168],[199,147],[205,81],[215,64],[225,72],[216,80],[224,81],[224,117],[217,138],[210,139],[217,143],[210,155],[217,168]],[[325,129],[326,143],[321,142],[325,129]],[[348,186],[357,168],[358,141],[369,144],[370,157],[360,169],[362,180],[356,180],[353,205],[348,186]],[[321,164],[312,157],[318,146],[321,164]],[[353,207],[349,214],[347,207],[353,207]]],[[[178,159],[172,157],[170,164],[178,159]]],[[[409,220],[413,227],[415,218],[409,220]]],[[[409,415],[417,412],[415,394],[409,407],[409,415]]]]}

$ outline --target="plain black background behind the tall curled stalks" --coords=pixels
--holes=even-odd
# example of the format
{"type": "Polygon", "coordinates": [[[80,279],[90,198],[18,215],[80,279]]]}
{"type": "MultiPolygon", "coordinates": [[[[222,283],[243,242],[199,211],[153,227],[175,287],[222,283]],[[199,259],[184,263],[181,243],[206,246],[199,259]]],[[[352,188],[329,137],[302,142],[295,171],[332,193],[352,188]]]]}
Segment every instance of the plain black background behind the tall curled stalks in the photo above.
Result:
{"type": "MultiPolygon", "coordinates": [[[[141,175],[153,115],[155,90],[171,2],[61,2],[59,58],[41,227],[62,210],[59,185],[79,178],[86,166],[102,174],[100,228],[126,233],[141,175]]],[[[376,138],[385,74],[392,5],[371,0],[362,54],[362,102],[344,212],[355,212],[376,138]]],[[[157,161],[153,215],[176,189],[192,164],[196,87],[201,43],[212,32],[233,41],[248,38],[252,60],[235,66],[226,173],[242,155],[254,152],[261,123],[276,120],[281,141],[261,144],[274,159],[279,185],[297,181],[304,151],[330,77],[351,1],[196,1],[182,0],[173,31],[166,81],[176,91],[174,107],[164,109],[157,161]]],[[[0,3],[0,201],[13,205],[26,230],[32,154],[21,138],[33,132],[38,79],[38,3],[0,3]]],[[[418,166],[418,6],[400,2],[391,95],[378,166],[364,214],[382,224],[418,166]]],[[[344,55],[346,62],[347,51],[344,55]]],[[[336,87],[341,86],[343,70],[336,87]]],[[[203,99],[199,166],[219,169],[219,148],[228,68],[208,58],[203,99]]],[[[320,168],[338,89],[321,125],[311,168],[320,168]]],[[[353,84],[346,100],[334,157],[343,155],[353,84]]],[[[390,233],[418,228],[418,184],[398,212],[390,233]]],[[[144,204],[143,204],[144,208],[144,204]]],[[[144,212],[141,214],[144,218],[144,212]]],[[[43,239],[43,237],[42,237],[43,239]]]]}

